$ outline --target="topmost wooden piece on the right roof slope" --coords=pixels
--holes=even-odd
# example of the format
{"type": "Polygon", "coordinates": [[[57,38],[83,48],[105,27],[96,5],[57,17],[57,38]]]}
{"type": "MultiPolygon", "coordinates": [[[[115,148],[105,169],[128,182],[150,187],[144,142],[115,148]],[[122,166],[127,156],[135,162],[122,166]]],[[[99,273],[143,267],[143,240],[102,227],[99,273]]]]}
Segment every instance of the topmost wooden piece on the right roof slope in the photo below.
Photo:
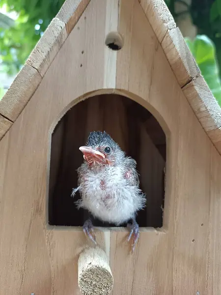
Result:
{"type": "Polygon", "coordinates": [[[161,43],[167,30],[176,28],[174,19],[164,0],[141,0],[140,5],[161,43]]]}

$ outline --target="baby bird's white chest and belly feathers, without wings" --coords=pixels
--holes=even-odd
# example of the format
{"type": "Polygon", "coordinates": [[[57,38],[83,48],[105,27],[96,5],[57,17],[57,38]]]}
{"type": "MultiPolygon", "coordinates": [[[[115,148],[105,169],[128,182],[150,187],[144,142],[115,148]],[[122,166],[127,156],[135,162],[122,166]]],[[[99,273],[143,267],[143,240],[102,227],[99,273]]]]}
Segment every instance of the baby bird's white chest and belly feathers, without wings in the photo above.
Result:
{"type": "Polygon", "coordinates": [[[89,210],[95,217],[119,225],[134,217],[142,205],[138,186],[131,185],[120,167],[108,167],[99,172],[85,171],[79,190],[79,207],[89,210]]]}

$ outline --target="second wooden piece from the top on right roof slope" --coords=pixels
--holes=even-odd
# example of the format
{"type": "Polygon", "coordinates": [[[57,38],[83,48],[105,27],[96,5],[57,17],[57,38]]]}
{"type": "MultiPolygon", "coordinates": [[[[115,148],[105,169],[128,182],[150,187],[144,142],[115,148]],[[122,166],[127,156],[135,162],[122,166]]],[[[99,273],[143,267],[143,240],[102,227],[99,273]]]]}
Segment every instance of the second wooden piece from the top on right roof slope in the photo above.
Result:
{"type": "Polygon", "coordinates": [[[168,30],[161,46],[180,87],[200,75],[200,70],[179,28],[168,30]]]}

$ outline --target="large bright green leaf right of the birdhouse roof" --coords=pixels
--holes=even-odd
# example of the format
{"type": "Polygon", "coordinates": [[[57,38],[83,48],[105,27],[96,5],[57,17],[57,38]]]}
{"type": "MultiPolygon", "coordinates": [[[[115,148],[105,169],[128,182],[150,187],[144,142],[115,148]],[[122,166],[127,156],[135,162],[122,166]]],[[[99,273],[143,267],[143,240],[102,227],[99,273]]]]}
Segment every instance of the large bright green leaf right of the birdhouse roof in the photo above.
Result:
{"type": "Polygon", "coordinates": [[[197,35],[193,41],[185,38],[185,41],[193,54],[203,78],[221,106],[220,70],[214,43],[206,35],[197,35]]]}

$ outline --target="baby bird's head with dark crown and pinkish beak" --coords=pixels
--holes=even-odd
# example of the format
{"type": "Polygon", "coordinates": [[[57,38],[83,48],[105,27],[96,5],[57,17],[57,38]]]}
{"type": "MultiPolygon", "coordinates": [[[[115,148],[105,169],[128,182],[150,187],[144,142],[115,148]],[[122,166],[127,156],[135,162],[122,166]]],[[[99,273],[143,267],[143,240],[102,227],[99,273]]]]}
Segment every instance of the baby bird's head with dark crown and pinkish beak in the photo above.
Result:
{"type": "Polygon", "coordinates": [[[125,157],[124,152],[105,131],[91,132],[86,146],[79,149],[83,152],[83,158],[90,167],[114,165],[120,163],[125,157]]]}

